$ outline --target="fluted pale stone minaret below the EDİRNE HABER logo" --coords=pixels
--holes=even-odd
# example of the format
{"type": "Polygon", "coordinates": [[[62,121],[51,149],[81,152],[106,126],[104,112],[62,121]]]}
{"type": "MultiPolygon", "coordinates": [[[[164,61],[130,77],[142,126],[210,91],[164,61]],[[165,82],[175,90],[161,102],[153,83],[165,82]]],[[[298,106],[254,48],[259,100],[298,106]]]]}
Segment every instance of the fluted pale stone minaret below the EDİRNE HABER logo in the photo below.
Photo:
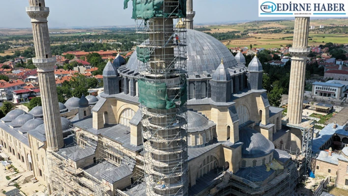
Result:
{"type": "Polygon", "coordinates": [[[288,101],[288,116],[290,124],[300,124],[302,121],[302,102],[306,76],[309,17],[296,17],[293,30],[293,43],[290,48],[291,71],[288,101]]]}

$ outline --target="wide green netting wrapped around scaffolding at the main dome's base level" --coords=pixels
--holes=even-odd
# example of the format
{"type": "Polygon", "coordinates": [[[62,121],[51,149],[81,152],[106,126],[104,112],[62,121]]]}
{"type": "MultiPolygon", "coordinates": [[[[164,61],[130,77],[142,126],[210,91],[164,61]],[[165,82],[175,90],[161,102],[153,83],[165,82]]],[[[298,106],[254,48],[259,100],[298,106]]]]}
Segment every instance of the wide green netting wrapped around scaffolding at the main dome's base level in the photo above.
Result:
{"type": "Polygon", "coordinates": [[[149,83],[139,80],[139,102],[151,109],[169,110],[175,108],[175,102],[181,101],[181,106],[187,101],[187,84],[180,89],[180,100],[169,100],[166,83],[149,83]]]}

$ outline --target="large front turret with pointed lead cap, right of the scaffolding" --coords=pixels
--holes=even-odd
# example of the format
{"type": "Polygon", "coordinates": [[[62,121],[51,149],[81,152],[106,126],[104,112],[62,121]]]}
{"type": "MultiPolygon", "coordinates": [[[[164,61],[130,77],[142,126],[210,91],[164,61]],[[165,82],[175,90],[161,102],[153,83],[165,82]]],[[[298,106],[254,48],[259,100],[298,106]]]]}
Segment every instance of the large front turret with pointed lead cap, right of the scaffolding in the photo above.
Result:
{"type": "Polygon", "coordinates": [[[228,102],[231,99],[231,75],[221,60],[211,76],[211,99],[215,102],[228,102]]]}

